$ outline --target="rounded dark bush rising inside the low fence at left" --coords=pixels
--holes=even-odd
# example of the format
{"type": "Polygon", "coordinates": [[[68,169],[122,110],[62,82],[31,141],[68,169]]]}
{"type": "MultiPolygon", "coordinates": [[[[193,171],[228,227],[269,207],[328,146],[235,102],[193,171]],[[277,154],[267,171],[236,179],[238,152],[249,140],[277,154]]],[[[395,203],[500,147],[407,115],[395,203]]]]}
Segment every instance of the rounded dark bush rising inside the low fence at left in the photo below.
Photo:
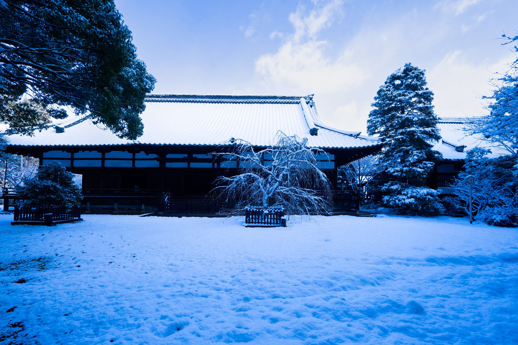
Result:
{"type": "Polygon", "coordinates": [[[52,161],[38,168],[33,178],[24,180],[16,188],[20,204],[25,206],[77,206],[81,203],[81,188],[73,181],[74,175],[60,163],[52,161]]]}

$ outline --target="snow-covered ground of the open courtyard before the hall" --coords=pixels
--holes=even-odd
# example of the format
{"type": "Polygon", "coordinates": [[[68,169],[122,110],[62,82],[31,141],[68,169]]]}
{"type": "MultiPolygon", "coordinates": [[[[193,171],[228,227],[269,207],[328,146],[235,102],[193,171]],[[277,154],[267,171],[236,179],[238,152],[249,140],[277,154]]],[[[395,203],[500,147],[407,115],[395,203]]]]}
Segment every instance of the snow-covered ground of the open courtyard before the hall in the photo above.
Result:
{"type": "Polygon", "coordinates": [[[11,219],[0,215],[0,343],[518,343],[516,229],[448,217],[274,229],[11,219]]]}

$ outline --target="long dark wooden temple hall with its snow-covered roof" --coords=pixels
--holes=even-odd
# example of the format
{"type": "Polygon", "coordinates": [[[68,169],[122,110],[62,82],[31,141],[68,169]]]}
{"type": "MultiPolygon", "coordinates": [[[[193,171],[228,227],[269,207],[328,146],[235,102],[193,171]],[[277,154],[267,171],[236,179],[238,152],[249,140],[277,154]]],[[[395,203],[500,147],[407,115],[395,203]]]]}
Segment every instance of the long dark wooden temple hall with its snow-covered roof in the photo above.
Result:
{"type": "Polygon", "coordinates": [[[85,211],[153,212],[164,198],[180,213],[210,213],[206,196],[215,178],[235,174],[239,162],[214,155],[245,140],[256,147],[274,144],[278,131],[307,138],[328,153],[320,168],[336,189],[337,168],[379,151],[376,138],[321,123],[312,95],[215,96],[148,95],[140,115],[143,135],[118,138],[88,116],[62,123],[34,136],[9,134],[6,151],[59,161],[82,175],[85,211]]]}

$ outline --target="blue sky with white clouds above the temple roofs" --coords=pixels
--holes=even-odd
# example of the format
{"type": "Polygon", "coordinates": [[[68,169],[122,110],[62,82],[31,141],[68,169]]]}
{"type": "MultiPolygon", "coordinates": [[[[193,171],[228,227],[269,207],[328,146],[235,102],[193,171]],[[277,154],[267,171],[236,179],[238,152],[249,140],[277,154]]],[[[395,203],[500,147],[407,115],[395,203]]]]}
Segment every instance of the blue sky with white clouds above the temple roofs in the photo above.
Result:
{"type": "Polygon", "coordinates": [[[514,57],[516,0],[116,0],[160,94],[315,94],[322,121],[365,131],[386,77],[426,70],[439,116],[486,112],[514,57]]]}

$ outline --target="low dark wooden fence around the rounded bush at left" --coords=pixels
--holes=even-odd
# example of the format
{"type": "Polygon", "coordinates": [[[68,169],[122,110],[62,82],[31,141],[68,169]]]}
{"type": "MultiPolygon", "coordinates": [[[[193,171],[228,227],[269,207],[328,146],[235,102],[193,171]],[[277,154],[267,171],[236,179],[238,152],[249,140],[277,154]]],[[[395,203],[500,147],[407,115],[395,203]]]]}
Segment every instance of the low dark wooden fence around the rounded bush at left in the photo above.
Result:
{"type": "Polygon", "coordinates": [[[15,205],[14,223],[53,223],[81,220],[81,207],[15,205]]]}

